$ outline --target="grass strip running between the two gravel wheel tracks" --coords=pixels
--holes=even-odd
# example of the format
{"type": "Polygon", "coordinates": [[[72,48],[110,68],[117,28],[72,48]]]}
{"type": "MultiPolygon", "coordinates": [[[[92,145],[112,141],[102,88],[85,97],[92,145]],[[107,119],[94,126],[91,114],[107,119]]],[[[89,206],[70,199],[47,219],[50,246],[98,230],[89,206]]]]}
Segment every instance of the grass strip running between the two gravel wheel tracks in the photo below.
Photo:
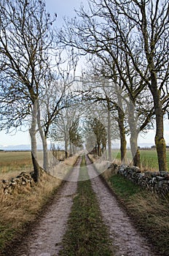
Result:
{"type": "Polygon", "coordinates": [[[63,249],[59,255],[112,256],[111,241],[101,217],[98,201],[90,180],[85,180],[88,173],[84,156],[81,167],[77,195],[74,197],[68,228],[63,236],[63,249]]]}

